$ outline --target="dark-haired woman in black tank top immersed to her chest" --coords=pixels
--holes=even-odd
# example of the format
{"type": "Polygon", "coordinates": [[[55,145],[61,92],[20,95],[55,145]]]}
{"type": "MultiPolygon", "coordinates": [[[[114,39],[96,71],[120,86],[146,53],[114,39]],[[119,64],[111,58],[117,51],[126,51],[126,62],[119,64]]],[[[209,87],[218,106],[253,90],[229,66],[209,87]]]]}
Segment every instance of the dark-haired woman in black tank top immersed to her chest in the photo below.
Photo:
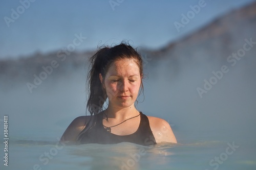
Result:
{"type": "Polygon", "coordinates": [[[177,143],[165,120],[146,116],[135,107],[137,96],[143,90],[143,63],[132,46],[121,43],[103,47],[90,62],[87,109],[91,115],[75,118],[61,141],[81,144],[177,143]],[[105,102],[108,107],[103,110],[105,102]]]}

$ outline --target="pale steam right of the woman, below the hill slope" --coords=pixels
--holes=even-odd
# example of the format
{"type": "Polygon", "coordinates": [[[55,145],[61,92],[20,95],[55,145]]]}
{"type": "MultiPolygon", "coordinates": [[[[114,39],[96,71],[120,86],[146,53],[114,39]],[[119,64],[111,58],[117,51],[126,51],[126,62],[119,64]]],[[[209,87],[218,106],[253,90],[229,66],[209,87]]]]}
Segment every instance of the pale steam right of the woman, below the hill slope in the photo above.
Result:
{"type": "Polygon", "coordinates": [[[150,86],[146,87],[142,105],[148,112],[174,124],[178,134],[184,132],[185,141],[186,137],[230,140],[238,136],[255,140],[255,59],[246,57],[250,59],[241,59],[234,67],[224,63],[229,66],[229,72],[203,93],[202,98],[197,87],[203,88],[204,79],[209,81],[214,76],[211,72],[220,70],[224,64],[203,63],[208,69],[186,65],[175,77],[170,76],[172,73],[163,64],[159,76],[148,81],[150,86]]]}

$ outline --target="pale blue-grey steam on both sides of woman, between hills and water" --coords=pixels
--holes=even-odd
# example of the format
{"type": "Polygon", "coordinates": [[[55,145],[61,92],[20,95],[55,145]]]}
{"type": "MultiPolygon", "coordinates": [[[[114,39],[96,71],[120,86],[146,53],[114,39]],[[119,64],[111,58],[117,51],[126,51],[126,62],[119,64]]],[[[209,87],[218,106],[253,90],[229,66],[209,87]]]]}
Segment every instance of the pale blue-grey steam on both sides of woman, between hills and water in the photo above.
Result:
{"type": "MultiPolygon", "coordinates": [[[[166,59],[154,65],[150,61],[137,108],[164,118],[179,142],[255,141],[255,61],[246,55],[233,67],[225,62],[181,63],[176,71],[166,59]],[[222,65],[229,71],[200,98],[197,88],[222,65]]],[[[50,75],[32,93],[26,82],[1,88],[1,118],[9,115],[12,139],[57,140],[75,117],[86,114],[86,76],[84,69],[66,77],[50,75]]]]}

